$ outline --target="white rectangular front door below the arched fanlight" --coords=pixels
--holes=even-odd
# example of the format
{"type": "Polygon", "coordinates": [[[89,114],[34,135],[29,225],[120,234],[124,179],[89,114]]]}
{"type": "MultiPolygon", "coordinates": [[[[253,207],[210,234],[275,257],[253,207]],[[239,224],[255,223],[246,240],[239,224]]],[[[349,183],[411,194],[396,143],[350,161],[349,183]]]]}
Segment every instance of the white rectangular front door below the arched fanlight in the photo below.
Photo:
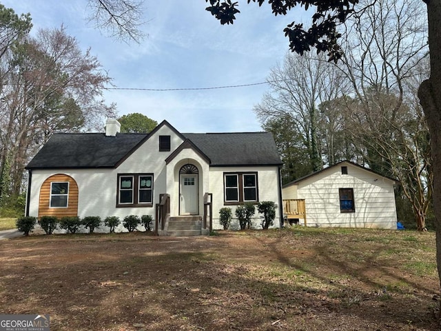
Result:
{"type": "Polygon", "coordinates": [[[181,215],[198,214],[198,174],[181,174],[181,215]]]}

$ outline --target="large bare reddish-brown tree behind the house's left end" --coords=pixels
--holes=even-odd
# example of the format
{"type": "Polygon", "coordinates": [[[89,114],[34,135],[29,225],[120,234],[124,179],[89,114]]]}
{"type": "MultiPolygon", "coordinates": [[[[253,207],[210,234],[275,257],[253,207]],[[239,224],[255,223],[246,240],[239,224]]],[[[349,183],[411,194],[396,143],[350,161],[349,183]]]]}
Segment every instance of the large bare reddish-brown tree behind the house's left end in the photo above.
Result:
{"type": "Polygon", "coordinates": [[[2,158],[11,159],[12,194],[17,195],[30,154],[54,130],[101,127],[103,117],[115,114],[101,95],[110,78],[63,27],[40,30],[37,37],[11,48],[8,61],[3,60],[8,85],[0,95],[0,142],[2,158]]]}

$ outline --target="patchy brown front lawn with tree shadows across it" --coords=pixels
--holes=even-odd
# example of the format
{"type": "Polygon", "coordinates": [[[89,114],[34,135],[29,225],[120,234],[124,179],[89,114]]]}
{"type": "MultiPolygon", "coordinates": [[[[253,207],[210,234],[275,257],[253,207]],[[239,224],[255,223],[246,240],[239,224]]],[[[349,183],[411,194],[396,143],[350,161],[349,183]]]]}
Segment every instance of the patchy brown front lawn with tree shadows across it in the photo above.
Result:
{"type": "Polygon", "coordinates": [[[292,228],[0,241],[0,312],[54,330],[438,330],[435,236],[292,228]]]}

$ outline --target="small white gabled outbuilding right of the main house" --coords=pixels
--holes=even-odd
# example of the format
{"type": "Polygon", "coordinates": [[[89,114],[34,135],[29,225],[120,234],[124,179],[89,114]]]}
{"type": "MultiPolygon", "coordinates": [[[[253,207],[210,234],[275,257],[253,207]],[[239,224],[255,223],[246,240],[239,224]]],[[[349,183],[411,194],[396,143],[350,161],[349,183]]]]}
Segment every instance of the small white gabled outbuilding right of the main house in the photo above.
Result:
{"type": "Polygon", "coordinates": [[[284,185],[283,199],[305,200],[308,226],[396,229],[395,183],[342,161],[284,185]]]}

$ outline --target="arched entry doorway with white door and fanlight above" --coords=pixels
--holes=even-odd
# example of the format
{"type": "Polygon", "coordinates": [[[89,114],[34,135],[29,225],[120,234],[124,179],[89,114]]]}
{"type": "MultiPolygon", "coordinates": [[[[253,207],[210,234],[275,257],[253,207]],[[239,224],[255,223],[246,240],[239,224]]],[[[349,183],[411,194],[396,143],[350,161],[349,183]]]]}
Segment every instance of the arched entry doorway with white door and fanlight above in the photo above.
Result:
{"type": "Polygon", "coordinates": [[[179,170],[179,214],[199,213],[199,170],[187,163],[179,170]]]}

